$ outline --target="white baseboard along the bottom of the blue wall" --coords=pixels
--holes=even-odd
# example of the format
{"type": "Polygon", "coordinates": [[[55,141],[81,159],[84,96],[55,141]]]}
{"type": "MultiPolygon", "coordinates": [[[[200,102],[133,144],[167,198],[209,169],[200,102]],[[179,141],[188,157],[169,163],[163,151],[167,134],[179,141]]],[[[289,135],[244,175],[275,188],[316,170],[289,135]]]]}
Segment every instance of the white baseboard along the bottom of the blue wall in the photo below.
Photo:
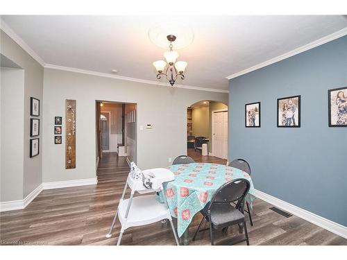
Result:
{"type": "Polygon", "coordinates": [[[323,229],[326,229],[334,234],[337,234],[347,239],[347,227],[345,227],[344,225],[335,223],[332,220],[328,220],[327,218],[318,216],[305,209],[301,209],[300,207],[297,207],[288,202],[275,198],[262,191],[258,191],[257,189],[255,189],[255,197],[260,198],[260,200],[269,202],[273,206],[284,209],[285,211],[288,211],[289,213],[295,216],[298,216],[299,218],[303,218],[309,221],[310,223],[313,223],[314,225],[322,227],[323,229]]]}

